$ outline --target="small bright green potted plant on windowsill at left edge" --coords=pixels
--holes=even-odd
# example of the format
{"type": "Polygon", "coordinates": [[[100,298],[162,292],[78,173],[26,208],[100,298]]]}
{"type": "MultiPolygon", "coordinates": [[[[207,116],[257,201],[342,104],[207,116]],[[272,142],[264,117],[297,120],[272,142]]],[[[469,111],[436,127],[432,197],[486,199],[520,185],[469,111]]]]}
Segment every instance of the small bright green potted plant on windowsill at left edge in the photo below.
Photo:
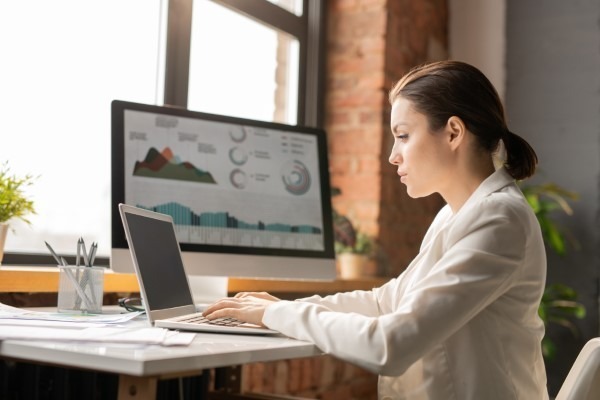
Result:
{"type": "Polygon", "coordinates": [[[0,263],[4,256],[8,222],[17,218],[30,224],[27,215],[35,214],[33,201],[29,200],[23,192],[33,183],[33,180],[34,177],[31,175],[17,177],[11,174],[7,162],[0,168],[0,263]]]}

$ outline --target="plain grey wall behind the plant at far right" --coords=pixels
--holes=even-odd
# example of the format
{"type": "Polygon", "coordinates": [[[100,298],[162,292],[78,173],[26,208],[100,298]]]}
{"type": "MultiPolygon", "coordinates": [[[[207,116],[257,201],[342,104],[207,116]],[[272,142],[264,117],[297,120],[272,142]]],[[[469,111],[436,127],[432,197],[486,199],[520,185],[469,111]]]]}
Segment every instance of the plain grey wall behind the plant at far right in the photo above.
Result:
{"type": "Polygon", "coordinates": [[[564,283],[587,308],[579,335],[553,325],[559,354],[548,364],[551,394],[586,340],[598,336],[600,287],[600,2],[508,0],[506,112],[511,129],[536,149],[537,183],[579,194],[573,215],[555,219],[577,240],[549,252],[548,282],[564,283]],[[542,4],[543,3],[543,4],[542,4]]]}

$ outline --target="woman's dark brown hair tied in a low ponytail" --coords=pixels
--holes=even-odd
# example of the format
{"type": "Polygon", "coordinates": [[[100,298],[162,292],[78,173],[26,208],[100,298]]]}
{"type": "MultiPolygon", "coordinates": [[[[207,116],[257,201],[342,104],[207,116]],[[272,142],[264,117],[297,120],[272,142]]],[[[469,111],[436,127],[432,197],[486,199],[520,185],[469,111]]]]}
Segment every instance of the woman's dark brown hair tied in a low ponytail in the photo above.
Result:
{"type": "Polygon", "coordinates": [[[459,117],[490,154],[502,139],[508,173],[518,180],[534,174],[538,161],[535,151],[525,139],[508,130],[496,89],[472,65],[439,61],[413,68],[390,91],[390,103],[399,97],[425,114],[434,131],[445,126],[450,117],[459,117]]]}

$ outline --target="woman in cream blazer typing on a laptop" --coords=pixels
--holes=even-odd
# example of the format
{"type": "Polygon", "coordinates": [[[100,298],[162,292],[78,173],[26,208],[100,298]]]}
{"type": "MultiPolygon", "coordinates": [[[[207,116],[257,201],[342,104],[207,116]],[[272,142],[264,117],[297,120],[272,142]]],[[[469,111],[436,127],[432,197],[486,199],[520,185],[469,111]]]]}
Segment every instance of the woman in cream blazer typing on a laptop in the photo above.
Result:
{"type": "Polygon", "coordinates": [[[400,181],[411,197],[439,193],[447,203],[408,268],[372,291],[298,301],[240,293],[205,315],[311,341],[378,373],[382,399],[547,399],[537,314],[545,251],[515,183],[534,173],[535,152],[508,130],[492,84],[468,64],[415,68],[390,102],[389,161],[400,181]],[[496,169],[500,141],[506,157],[496,169]]]}

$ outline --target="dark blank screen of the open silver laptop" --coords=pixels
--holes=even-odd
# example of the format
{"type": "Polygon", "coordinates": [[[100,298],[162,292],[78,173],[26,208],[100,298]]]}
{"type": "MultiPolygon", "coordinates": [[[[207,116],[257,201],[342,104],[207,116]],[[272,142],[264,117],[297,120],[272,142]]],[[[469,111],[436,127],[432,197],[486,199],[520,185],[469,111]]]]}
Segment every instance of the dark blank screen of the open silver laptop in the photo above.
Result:
{"type": "Polygon", "coordinates": [[[128,212],[124,216],[150,310],[194,304],[173,224],[128,212]]]}

